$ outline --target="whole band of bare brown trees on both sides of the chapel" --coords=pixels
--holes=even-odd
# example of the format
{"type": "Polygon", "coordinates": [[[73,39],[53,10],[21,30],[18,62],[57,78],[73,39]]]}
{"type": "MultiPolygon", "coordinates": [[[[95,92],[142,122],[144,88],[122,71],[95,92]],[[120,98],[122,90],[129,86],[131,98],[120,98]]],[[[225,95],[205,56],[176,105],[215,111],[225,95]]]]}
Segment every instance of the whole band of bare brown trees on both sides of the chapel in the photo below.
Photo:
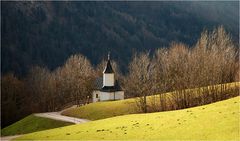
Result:
{"type": "MultiPolygon", "coordinates": [[[[2,127],[31,113],[88,104],[95,80],[102,77],[105,65],[104,58],[94,67],[84,55],[75,54],[52,71],[34,66],[23,78],[13,73],[4,74],[1,79],[2,127]]],[[[239,95],[238,86],[224,85],[239,81],[240,68],[239,48],[223,27],[202,32],[191,47],[175,42],[157,49],[153,55],[136,53],[126,74],[119,71],[115,61],[112,66],[125,98],[138,97],[136,103],[141,112],[183,109],[239,95]],[[217,84],[220,86],[216,87],[217,84]],[[175,93],[171,98],[164,95],[172,91],[175,93]],[[154,103],[146,105],[146,96],[155,94],[160,96],[152,97],[154,103]]]]}

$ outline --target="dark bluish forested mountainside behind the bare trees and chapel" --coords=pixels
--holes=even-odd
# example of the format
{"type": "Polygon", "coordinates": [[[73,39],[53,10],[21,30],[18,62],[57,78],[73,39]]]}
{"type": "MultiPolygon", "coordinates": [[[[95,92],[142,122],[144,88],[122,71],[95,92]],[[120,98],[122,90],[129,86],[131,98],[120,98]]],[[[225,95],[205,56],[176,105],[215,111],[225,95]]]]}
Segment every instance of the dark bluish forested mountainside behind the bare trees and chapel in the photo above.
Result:
{"type": "Polygon", "coordinates": [[[55,69],[81,53],[99,63],[108,51],[126,71],[133,52],[173,41],[196,43],[203,29],[239,31],[239,2],[1,2],[2,73],[55,69]]]}

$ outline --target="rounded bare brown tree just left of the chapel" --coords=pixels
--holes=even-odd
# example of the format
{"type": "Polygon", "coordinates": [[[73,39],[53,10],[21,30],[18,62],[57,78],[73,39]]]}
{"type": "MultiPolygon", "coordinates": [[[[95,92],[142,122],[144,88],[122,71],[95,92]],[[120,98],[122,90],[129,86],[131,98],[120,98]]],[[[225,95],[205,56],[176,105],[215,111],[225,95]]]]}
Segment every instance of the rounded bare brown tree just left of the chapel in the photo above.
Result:
{"type": "Polygon", "coordinates": [[[73,55],[62,69],[65,72],[63,75],[65,87],[79,106],[90,96],[93,88],[95,74],[91,63],[82,55],[73,55]]]}

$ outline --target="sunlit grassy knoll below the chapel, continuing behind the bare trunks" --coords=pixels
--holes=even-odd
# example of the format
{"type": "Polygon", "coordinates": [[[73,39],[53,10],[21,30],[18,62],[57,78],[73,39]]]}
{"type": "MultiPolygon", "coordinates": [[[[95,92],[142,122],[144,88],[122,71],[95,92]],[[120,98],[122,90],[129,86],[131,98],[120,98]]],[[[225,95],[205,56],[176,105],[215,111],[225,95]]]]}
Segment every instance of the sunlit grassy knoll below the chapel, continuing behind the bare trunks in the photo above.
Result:
{"type": "MultiPolygon", "coordinates": [[[[240,87],[240,82],[228,83],[226,86],[231,87],[240,87]]],[[[220,85],[216,85],[219,87],[220,85]]],[[[206,88],[206,87],[204,87],[206,88]]],[[[192,95],[198,97],[199,94],[194,93],[195,89],[191,89],[193,91],[192,95]]],[[[190,91],[190,89],[189,89],[190,91]]],[[[195,90],[196,91],[196,90],[195,90]]],[[[172,98],[174,92],[165,94],[168,98],[167,102],[172,98]]],[[[148,96],[147,103],[151,104],[151,100],[154,98],[159,98],[159,95],[148,96]]],[[[136,107],[136,99],[126,99],[120,101],[107,101],[107,102],[97,102],[91,103],[85,106],[81,106],[78,108],[72,108],[64,111],[62,114],[71,117],[85,118],[90,120],[98,120],[104,119],[114,116],[127,115],[127,114],[136,114],[140,113],[139,109],[136,107]]]]}

